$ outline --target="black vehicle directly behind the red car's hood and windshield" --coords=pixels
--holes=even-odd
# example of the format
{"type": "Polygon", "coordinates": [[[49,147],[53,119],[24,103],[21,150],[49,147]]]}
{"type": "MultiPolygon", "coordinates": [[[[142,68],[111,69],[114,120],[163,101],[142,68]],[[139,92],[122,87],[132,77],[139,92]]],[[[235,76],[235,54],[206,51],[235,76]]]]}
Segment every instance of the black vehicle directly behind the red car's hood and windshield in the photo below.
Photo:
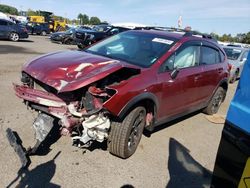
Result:
{"type": "Polygon", "coordinates": [[[83,49],[90,44],[100,41],[106,37],[128,31],[129,28],[114,27],[111,25],[96,25],[92,30],[77,29],[75,34],[75,41],[78,48],[83,49]]]}

